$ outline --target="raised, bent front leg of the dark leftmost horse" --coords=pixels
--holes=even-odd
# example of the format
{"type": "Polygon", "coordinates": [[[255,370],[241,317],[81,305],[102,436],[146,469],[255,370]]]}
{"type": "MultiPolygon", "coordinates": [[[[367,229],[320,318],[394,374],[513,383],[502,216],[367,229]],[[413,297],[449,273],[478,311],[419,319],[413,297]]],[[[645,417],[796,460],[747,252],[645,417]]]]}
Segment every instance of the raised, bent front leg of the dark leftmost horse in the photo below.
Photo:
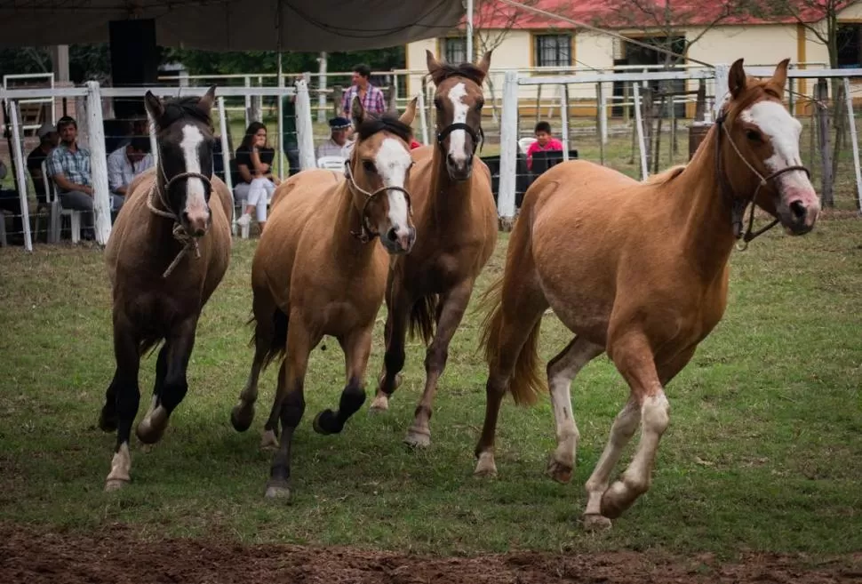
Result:
{"type": "Polygon", "coordinates": [[[140,421],[136,431],[138,439],[144,444],[155,444],[162,439],[171,413],[186,396],[188,391],[186,370],[188,360],[192,356],[192,349],[195,348],[196,328],[197,315],[190,316],[165,340],[162,350],[166,351],[167,370],[161,391],[154,396],[153,407],[140,421]]]}

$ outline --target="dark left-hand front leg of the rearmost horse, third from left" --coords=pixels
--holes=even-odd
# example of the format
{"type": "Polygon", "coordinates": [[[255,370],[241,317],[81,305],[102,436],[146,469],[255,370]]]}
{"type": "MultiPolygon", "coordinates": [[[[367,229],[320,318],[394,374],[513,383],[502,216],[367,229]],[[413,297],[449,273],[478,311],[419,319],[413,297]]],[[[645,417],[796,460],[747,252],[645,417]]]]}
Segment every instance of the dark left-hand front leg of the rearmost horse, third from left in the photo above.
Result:
{"type": "Polygon", "coordinates": [[[401,385],[404,368],[404,344],[407,339],[407,319],[410,316],[410,293],[397,277],[390,275],[387,286],[386,354],[378,380],[377,394],[371,402],[371,412],[389,409],[389,397],[401,385]]]}

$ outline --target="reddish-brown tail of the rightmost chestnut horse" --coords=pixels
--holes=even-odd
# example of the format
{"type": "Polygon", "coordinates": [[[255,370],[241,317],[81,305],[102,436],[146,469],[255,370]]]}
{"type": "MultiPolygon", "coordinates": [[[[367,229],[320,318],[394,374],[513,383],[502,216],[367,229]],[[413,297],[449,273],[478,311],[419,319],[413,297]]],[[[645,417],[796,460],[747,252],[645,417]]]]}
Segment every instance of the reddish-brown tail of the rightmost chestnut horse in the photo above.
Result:
{"type": "MultiPolygon", "coordinates": [[[[531,260],[530,249],[530,226],[527,221],[520,220],[515,223],[515,229],[512,232],[512,237],[509,240],[509,255],[520,256],[520,259],[531,260]]],[[[479,300],[479,309],[483,310],[485,316],[481,324],[479,345],[484,348],[485,362],[488,364],[491,371],[499,365],[500,351],[502,349],[502,334],[504,332],[504,298],[507,284],[511,285],[508,278],[523,276],[523,268],[528,266],[520,265],[519,257],[507,258],[507,269],[497,281],[491,284],[491,287],[486,290],[479,300]],[[516,265],[518,264],[518,265],[516,265]],[[515,267],[517,269],[512,269],[515,267]],[[514,276],[517,274],[518,276],[514,276]]],[[[512,309],[508,308],[508,322],[506,323],[508,333],[517,330],[522,324],[517,321],[518,312],[512,314],[512,309]]],[[[541,328],[542,319],[533,325],[523,346],[518,351],[515,358],[515,371],[513,372],[509,383],[508,390],[512,394],[512,399],[518,405],[532,405],[539,400],[539,395],[545,391],[545,380],[542,377],[541,360],[539,359],[539,330],[541,328]]],[[[523,329],[522,329],[523,330],[523,329]]]]}

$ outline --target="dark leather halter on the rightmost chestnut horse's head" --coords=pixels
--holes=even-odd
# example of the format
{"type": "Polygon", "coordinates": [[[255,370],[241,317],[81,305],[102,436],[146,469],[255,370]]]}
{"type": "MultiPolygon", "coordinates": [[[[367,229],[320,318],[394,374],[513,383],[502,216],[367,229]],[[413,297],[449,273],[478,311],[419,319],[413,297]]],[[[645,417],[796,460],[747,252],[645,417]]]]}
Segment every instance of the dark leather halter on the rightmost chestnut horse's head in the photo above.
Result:
{"type": "Polygon", "coordinates": [[[778,178],[785,172],[802,171],[808,175],[809,179],[811,177],[811,173],[806,167],[794,164],[792,166],[786,166],[776,172],[772,172],[769,176],[764,177],[760,172],[757,172],[757,169],[755,169],[754,166],[746,160],[746,157],[742,156],[742,153],[739,152],[739,148],[737,148],[736,143],[732,138],[730,138],[730,131],[727,129],[727,125],[725,124],[726,121],[727,110],[722,109],[719,116],[715,119],[715,124],[717,126],[715,132],[715,171],[718,174],[718,180],[722,186],[722,196],[724,196],[724,199],[730,204],[730,221],[733,226],[733,236],[737,239],[741,239],[737,244],[737,249],[739,251],[744,251],[748,247],[748,242],[753,240],[754,237],[762,236],[771,228],[778,225],[778,219],[775,219],[766,227],[760,228],[757,231],[753,230],[754,205],[756,204],[755,200],[760,189],[769,184],[770,180],[778,178]],[[722,134],[727,135],[727,141],[730,144],[730,148],[733,148],[733,151],[737,153],[739,160],[741,160],[742,163],[745,164],[751,172],[754,172],[754,175],[757,176],[758,179],[760,179],[760,182],[757,183],[757,188],[754,189],[754,193],[750,197],[734,196],[733,188],[730,186],[730,182],[722,171],[722,134]],[[751,204],[751,209],[748,213],[748,228],[746,228],[746,233],[743,235],[743,220],[748,204],[751,204]]]}

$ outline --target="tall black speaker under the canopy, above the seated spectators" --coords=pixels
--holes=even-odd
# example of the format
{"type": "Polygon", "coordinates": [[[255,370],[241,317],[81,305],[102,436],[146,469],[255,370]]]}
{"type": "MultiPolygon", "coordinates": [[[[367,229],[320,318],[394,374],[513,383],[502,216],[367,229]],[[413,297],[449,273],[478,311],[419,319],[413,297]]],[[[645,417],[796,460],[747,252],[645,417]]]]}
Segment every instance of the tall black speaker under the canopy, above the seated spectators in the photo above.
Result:
{"type": "MultiPolygon", "coordinates": [[[[156,20],[113,20],[108,23],[108,32],[114,86],[140,87],[156,84],[156,20]]],[[[114,114],[121,120],[146,117],[144,96],[135,99],[115,98],[114,114]]]]}

